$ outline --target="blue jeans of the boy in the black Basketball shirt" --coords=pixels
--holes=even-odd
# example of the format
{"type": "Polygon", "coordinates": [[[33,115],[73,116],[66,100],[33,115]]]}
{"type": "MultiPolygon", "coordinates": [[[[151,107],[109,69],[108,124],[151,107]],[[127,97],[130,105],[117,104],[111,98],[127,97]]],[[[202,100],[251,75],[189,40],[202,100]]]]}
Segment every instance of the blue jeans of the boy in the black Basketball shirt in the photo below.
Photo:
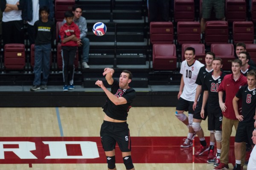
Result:
{"type": "Polygon", "coordinates": [[[35,79],[33,85],[46,85],[50,73],[51,44],[35,45],[35,79]],[[41,80],[42,72],[42,80],[41,80]]]}

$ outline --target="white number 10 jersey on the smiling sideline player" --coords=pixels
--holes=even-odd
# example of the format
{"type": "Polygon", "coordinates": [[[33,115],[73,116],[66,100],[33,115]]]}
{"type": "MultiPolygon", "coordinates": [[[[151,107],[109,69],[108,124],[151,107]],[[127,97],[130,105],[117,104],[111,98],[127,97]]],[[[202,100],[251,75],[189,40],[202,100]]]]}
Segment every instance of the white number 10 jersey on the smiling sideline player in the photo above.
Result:
{"type": "Polygon", "coordinates": [[[188,65],[187,61],[184,60],[180,66],[180,74],[183,75],[184,88],[180,97],[183,99],[194,102],[197,84],[195,84],[198,72],[204,64],[195,60],[192,65],[188,65]]]}

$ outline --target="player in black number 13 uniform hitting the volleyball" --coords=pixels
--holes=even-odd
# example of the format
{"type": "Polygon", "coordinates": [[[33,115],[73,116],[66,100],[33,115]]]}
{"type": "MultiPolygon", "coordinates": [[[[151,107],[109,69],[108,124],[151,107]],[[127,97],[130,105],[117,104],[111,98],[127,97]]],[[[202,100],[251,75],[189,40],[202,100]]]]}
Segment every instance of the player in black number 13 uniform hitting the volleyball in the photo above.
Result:
{"type": "Polygon", "coordinates": [[[104,69],[103,76],[105,76],[108,84],[111,85],[111,91],[108,91],[102,81],[98,80],[95,83],[108,96],[106,104],[102,107],[105,112],[104,121],[100,129],[102,147],[107,157],[108,170],[116,170],[116,142],[122,152],[126,170],[134,170],[131,160],[130,130],[126,120],[136,92],[129,87],[132,79],[130,71],[122,71],[119,81],[112,78],[113,74],[113,68],[104,69]]]}

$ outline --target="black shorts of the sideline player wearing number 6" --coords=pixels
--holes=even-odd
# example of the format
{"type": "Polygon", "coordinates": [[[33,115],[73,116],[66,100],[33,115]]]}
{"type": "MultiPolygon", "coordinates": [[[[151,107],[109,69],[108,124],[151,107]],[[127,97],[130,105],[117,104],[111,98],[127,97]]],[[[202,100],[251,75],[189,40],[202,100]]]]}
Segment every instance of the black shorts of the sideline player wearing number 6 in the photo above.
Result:
{"type": "Polygon", "coordinates": [[[248,144],[253,144],[252,136],[254,128],[255,127],[253,125],[241,125],[241,123],[239,122],[236,130],[235,142],[247,142],[248,144]]]}

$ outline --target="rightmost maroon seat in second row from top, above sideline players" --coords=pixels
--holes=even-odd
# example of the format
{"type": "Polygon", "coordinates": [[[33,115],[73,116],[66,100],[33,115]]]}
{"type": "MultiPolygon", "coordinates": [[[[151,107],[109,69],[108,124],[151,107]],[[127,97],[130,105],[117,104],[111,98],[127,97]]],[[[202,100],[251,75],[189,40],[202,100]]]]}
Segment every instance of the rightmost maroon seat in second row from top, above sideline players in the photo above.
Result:
{"type": "Polygon", "coordinates": [[[233,22],[233,43],[244,42],[253,43],[254,26],[252,21],[234,21],[233,22]]]}

